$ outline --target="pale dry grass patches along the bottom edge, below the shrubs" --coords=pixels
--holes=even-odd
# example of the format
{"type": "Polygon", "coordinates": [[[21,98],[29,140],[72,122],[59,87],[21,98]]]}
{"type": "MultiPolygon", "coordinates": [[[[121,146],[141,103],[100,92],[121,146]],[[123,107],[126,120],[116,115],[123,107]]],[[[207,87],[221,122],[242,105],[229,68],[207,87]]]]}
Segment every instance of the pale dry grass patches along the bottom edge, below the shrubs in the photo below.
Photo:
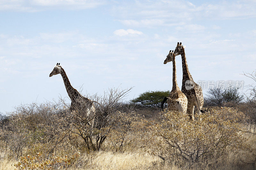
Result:
{"type": "MultiPolygon", "coordinates": [[[[250,135],[248,140],[249,144],[252,144],[256,148],[256,139],[250,135]]],[[[255,169],[255,150],[240,151],[239,153],[229,153],[225,157],[222,157],[218,165],[215,167],[220,170],[252,170],[255,169]]],[[[13,170],[15,160],[3,159],[0,163],[0,170],[13,170]]],[[[214,168],[214,169],[215,169],[214,168]]],[[[200,166],[182,166],[174,165],[174,163],[166,164],[157,157],[144,152],[142,150],[137,152],[94,152],[90,154],[81,155],[76,162],[76,166],[68,168],[70,170],[82,170],[82,169],[96,169],[96,170],[130,170],[130,169],[150,169],[150,170],[185,170],[185,169],[202,169],[200,166]],[[77,166],[78,165],[78,166],[77,166]]],[[[212,168],[206,168],[212,169],[212,168]]]]}

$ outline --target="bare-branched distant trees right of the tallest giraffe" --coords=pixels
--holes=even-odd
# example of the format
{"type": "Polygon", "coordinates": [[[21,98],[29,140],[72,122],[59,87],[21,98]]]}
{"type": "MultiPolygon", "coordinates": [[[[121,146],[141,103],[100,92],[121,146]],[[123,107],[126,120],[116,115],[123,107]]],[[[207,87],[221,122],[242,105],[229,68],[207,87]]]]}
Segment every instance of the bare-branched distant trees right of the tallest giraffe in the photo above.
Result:
{"type": "Polygon", "coordinates": [[[240,103],[244,96],[240,94],[238,88],[230,87],[222,89],[221,87],[214,87],[209,89],[205,98],[205,106],[222,106],[223,103],[240,103]]]}

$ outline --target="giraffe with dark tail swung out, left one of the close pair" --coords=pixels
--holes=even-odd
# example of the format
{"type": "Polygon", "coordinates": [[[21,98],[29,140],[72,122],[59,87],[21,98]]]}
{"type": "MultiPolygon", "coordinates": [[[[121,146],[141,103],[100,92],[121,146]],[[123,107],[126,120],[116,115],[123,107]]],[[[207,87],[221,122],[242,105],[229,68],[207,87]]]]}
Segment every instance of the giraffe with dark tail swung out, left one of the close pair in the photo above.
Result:
{"type": "Polygon", "coordinates": [[[173,53],[173,50],[170,50],[169,54],[166,56],[164,60],[164,64],[172,61],[172,91],[169,94],[169,97],[165,97],[161,107],[163,109],[164,102],[167,100],[168,103],[168,110],[177,111],[186,113],[187,112],[187,105],[188,99],[186,95],[180,91],[180,88],[177,84],[177,76],[176,76],[176,63],[175,63],[175,56],[177,54],[173,53]]]}

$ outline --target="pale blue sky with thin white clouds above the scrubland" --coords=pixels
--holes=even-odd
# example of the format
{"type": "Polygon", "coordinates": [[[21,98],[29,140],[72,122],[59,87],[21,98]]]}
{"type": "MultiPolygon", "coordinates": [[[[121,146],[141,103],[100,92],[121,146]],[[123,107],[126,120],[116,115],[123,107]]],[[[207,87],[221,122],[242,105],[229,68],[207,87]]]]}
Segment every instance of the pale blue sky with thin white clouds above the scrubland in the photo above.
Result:
{"type": "MultiPolygon", "coordinates": [[[[0,111],[67,97],[61,63],[82,94],[172,89],[177,42],[194,80],[244,80],[256,65],[256,1],[0,1],[0,111]]],[[[176,57],[181,87],[181,58],[176,57]]],[[[207,89],[204,90],[206,94],[207,89]]]]}

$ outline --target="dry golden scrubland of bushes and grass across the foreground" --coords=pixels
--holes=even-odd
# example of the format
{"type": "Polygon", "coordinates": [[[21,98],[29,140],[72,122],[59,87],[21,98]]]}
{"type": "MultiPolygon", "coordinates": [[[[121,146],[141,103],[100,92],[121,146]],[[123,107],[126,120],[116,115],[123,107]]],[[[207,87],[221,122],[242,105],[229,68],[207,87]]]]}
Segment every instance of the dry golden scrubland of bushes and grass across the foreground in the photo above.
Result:
{"type": "Polygon", "coordinates": [[[115,122],[98,131],[95,126],[86,143],[74,121],[63,124],[63,107],[23,106],[2,117],[0,170],[256,168],[256,135],[237,108],[213,107],[194,122],[154,108],[129,112],[117,112],[122,117],[109,117],[115,122]],[[106,137],[100,147],[98,134],[106,137]]]}

